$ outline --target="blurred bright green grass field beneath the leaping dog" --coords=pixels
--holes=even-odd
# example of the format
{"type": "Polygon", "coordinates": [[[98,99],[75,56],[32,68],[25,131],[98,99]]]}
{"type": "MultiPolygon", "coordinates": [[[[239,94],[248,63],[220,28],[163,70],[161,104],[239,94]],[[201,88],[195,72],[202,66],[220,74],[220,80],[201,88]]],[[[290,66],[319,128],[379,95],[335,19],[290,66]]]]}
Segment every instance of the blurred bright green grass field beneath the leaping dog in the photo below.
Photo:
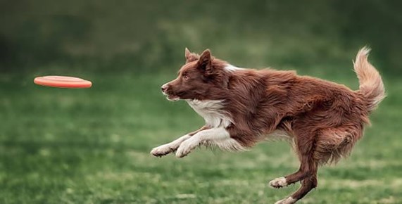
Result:
{"type": "MultiPolygon", "coordinates": [[[[348,71],[315,76],[356,88],[348,71]]],[[[149,155],[203,125],[186,103],[161,95],[174,72],[81,73],[91,89],[35,86],[40,74],[0,75],[0,203],[273,203],[299,187],[267,185],[299,167],[284,142],[243,153],[201,148],[182,159],[149,155]]],[[[350,158],[320,169],[318,189],[301,203],[402,203],[402,82],[385,81],[389,97],[372,127],[350,158]]]]}

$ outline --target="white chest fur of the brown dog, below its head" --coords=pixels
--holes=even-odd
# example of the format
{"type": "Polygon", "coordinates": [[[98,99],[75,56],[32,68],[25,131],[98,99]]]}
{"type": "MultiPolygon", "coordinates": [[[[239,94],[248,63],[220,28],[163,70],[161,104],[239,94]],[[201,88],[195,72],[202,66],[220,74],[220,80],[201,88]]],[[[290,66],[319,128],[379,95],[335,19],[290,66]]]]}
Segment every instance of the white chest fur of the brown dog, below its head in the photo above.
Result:
{"type": "Polygon", "coordinates": [[[220,100],[186,100],[196,113],[201,115],[209,127],[228,127],[232,119],[222,110],[220,100]]]}

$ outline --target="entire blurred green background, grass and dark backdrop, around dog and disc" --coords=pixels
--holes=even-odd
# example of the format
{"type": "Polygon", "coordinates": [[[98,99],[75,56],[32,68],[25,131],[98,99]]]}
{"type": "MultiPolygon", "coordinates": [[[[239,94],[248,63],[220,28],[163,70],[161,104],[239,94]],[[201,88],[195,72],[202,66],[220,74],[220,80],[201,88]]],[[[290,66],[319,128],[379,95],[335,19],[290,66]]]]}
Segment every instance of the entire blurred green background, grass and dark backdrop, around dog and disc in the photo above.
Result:
{"type": "Polygon", "coordinates": [[[402,203],[401,2],[0,1],[0,203],[274,203],[299,186],[267,186],[298,168],[284,142],[149,155],[203,125],[161,84],[187,46],[357,89],[351,60],[365,45],[388,97],[301,203],[402,203]],[[39,75],[94,86],[39,87],[39,75]]]}

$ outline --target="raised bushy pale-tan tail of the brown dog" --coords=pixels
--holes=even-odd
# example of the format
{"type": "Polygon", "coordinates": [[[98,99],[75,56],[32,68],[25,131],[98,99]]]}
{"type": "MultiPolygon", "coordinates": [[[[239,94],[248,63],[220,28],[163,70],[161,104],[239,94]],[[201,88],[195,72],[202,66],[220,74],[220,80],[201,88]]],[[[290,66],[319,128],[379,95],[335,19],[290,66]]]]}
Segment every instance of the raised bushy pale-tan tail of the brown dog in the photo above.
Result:
{"type": "Polygon", "coordinates": [[[370,53],[368,47],[360,49],[353,65],[359,79],[358,93],[365,98],[368,110],[371,111],[385,98],[385,89],[378,71],[368,62],[368,53],[370,53]]]}

